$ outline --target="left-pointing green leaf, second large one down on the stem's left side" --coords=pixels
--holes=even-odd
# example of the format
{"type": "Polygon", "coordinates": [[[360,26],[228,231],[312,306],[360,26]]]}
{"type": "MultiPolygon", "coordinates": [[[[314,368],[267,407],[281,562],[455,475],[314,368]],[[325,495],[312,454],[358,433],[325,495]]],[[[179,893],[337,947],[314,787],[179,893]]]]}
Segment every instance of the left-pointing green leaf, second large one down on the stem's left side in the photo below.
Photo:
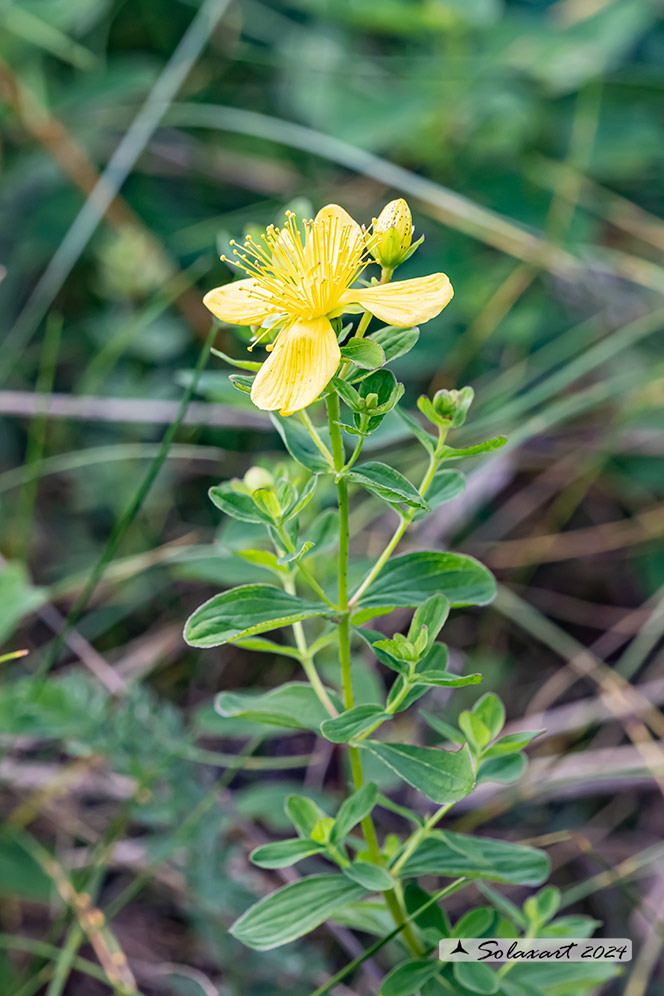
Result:
{"type": "MultiPolygon", "coordinates": [[[[331,697],[334,701],[334,693],[331,697]]],[[[228,719],[315,732],[327,716],[313,688],[304,681],[291,681],[269,692],[219,692],[214,708],[228,719]]]]}

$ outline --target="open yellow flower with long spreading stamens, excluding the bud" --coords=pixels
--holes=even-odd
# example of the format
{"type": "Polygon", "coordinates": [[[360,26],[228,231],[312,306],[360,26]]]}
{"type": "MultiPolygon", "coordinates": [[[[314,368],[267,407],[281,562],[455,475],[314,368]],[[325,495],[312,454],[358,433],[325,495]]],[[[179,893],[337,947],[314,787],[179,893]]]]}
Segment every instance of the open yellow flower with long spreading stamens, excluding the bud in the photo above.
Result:
{"type": "Polygon", "coordinates": [[[406,328],[435,318],[453,294],[444,273],[353,287],[371,262],[357,222],[343,208],[328,204],[304,227],[302,238],[288,213],[284,228],[270,226],[260,242],[247,238],[234,252],[249,276],[217,287],[203,299],[223,322],[268,328],[281,323],[251,399],[258,408],[278,409],[282,415],[306,408],[334,376],[341,353],[330,318],[360,305],[389,325],[406,328]]]}

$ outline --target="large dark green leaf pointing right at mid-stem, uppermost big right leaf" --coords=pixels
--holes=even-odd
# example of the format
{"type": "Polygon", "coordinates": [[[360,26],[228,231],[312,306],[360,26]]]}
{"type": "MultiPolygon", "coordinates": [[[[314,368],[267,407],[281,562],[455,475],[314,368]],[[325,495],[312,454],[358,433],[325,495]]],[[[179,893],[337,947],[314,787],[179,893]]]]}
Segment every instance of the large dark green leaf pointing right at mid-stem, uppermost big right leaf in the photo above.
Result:
{"type": "Polygon", "coordinates": [[[421,605],[445,595],[452,606],[486,605],[496,594],[493,575],[473,557],[459,553],[407,553],[390,561],[358,602],[356,623],[370,619],[370,609],[421,605]]]}

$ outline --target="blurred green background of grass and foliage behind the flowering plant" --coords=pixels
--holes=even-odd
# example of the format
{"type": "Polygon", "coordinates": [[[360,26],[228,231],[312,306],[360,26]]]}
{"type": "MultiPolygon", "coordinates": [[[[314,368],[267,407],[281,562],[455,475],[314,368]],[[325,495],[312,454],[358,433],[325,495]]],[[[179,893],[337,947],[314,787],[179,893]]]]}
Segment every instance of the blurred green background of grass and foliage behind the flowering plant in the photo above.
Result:
{"type": "MultiPolygon", "coordinates": [[[[278,882],[248,847],[302,777],[334,796],[339,761],[222,729],[216,691],[297,675],[180,635],[254,576],[205,492],[278,459],[276,434],[212,359],[162,439],[230,238],[395,196],[426,236],[400,276],[456,292],[395,367],[411,407],[471,383],[468,439],[510,436],[410,542],[496,572],[449,641],[515,729],[549,731],[453,825],[547,846],[570,911],[636,942],[597,991],[661,991],[663,62],[656,0],[0,3],[0,654],[29,651],[0,685],[0,992],[111,991],[67,882],[145,996],[305,996],[370,943],[337,926],[247,957],[227,934],[278,882]]],[[[238,330],[216,344],[244,355],[238,330]]],[[[418,459],[394,425],[377,445],[418,459]]],[[[364,555],[391,522],[355,525],[364,555]]]]}

